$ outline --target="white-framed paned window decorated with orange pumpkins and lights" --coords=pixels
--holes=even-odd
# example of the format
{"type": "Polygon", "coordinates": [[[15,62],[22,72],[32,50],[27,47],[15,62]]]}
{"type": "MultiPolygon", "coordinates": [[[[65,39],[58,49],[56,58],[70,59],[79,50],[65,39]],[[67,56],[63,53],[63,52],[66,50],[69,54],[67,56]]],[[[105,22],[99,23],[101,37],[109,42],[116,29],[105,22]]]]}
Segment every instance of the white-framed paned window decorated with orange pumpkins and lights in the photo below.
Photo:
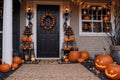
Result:
{"type": "Polygon", "coordinates": [[[80,6],[80,35],[104,36],[112,30],[111,7],[103,4],[80,6]]]}

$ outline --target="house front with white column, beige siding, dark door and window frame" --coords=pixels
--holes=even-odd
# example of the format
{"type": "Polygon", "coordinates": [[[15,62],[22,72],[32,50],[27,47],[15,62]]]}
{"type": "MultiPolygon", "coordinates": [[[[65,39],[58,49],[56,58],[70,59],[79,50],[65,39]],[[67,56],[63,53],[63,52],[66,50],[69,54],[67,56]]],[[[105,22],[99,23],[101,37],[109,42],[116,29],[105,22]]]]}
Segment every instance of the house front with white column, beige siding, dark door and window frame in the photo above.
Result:
{"type": "MultiPolygon", "coordinates": [[[[21,41],[21,38],[23,36],[25,26],[28,26],[29,23],[26,16],[28,8],[30,8],[33,13],[33,17],[30,20],[32,22],[33,33],[31,37],[34,43],[34,53],[36,59],[60,59],[62,57],[62,49],[65,37],[63,28],[65,19],[63,17],[63,14],[65,13],[66,7],[69,9],[68,12],[71,12],[70,17],[67,20],[67,25],[70,26],[74,32],[76,45],[78,46],[79,51],[87,50],[92,58],[94,58],[94,56],[97,54],[107,52],[109,53],[110,44],[107,41],[105,31],[102,30],[103,27],[100,31],[97,31],[98,28],[97,30],[93,28],[95,26],[95,22],[96,25],[104,26],[103,19],[101,20],[91,18],[85,20],[82,18],[83,14],[86,14],[82,11],[84,10],[83,5],[79,5],[78,3],[72,1],[74,0],[3,0],[4,11],[2,11],[3,13],[1,12],[3,14],[3,18],[1,18],[0,21],[0,47],[2,48],[3,62],[9,64],[12,63],[12,55],[14,49],[22,52],[21,44],[23,43],[21,41]],[[56,24],[54,25],[55,27],[53,27],[51,30],[44,30],[40,24],[41,18],[46,15],[46,13],[50,13],[56,21],[56,24]],[[84,31],[83,24],[91,25],[91,31],[84,31]],[[106,51],[104,51],[104,48],[106,51]],[[43,54],[42,57],[42,54],[40,54],[41,51],[43,51],[43,53],[47,51],[47,54],[43,54]],[[53,54],[54,51],[57,53],[53,54]]],[[[110,9],[108,9],[108,7],[107,9],[105,8],[106,13],[101,12],[100,15],[102,15],[104,18],[105,14],[107,14],[107,11],[110,11],[109,23],[111,26],[114,26],[112,21],[113,6],[109,4],[109,0],[83,0],[83,2],[85,6],[90,5],[96,7],[97,9],[99,7],[103,7],[106,4],[110,5],[110,9]]],[[[91,10],[90,8],[91,7],[87,9],[91,10]]],[[[91,15],[90,17],[93,17],[94,14],[91,13],[88,15],[91,15]]]]}

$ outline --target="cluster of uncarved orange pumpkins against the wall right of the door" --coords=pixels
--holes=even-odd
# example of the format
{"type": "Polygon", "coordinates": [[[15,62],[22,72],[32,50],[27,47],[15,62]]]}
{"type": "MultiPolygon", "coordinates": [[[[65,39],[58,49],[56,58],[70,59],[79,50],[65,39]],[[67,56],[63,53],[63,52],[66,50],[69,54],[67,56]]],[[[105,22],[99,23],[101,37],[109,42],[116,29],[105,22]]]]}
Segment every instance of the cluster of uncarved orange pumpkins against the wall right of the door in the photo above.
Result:
{"type": "Polygon", "coordinates": [[[84,62],[89,59],[88,51],[70,51],[68,57],[64,59],[64,62],[84,62]]]}

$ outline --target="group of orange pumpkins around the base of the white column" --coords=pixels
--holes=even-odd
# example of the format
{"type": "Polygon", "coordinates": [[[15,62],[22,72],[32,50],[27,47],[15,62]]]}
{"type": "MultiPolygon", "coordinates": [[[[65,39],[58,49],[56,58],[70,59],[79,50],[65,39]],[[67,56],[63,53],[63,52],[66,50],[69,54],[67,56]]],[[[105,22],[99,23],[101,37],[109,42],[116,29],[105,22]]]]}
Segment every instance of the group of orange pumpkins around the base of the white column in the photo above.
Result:
{"type": "Polygon", "coordinates": [[[0,65],[0,72],[6,73],[9,72],[10,70],[15,70],[22,63],[24,63],[24,60],[21,59],[21,57],[15,56],[13,57],[13,63],[11,65],[7,63],[3,63],[0,65]]]}

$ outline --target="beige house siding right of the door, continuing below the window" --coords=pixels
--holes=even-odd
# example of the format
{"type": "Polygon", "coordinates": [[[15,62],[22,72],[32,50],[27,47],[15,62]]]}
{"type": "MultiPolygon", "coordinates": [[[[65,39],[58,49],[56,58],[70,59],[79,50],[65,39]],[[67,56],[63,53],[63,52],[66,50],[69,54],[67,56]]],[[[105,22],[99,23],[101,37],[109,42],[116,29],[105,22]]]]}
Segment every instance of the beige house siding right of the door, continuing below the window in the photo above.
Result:
{"type": "Polygon", "coordinates": [[[96,54],[109,54],[109,43],[104,36],[80,36],[79,35],[79,6],[71,4],[71,27],[73,28],[79,51],[87,50],[94,58],[96,54]],[[104,51],[103,48],[106,48],[104,51]]]}

